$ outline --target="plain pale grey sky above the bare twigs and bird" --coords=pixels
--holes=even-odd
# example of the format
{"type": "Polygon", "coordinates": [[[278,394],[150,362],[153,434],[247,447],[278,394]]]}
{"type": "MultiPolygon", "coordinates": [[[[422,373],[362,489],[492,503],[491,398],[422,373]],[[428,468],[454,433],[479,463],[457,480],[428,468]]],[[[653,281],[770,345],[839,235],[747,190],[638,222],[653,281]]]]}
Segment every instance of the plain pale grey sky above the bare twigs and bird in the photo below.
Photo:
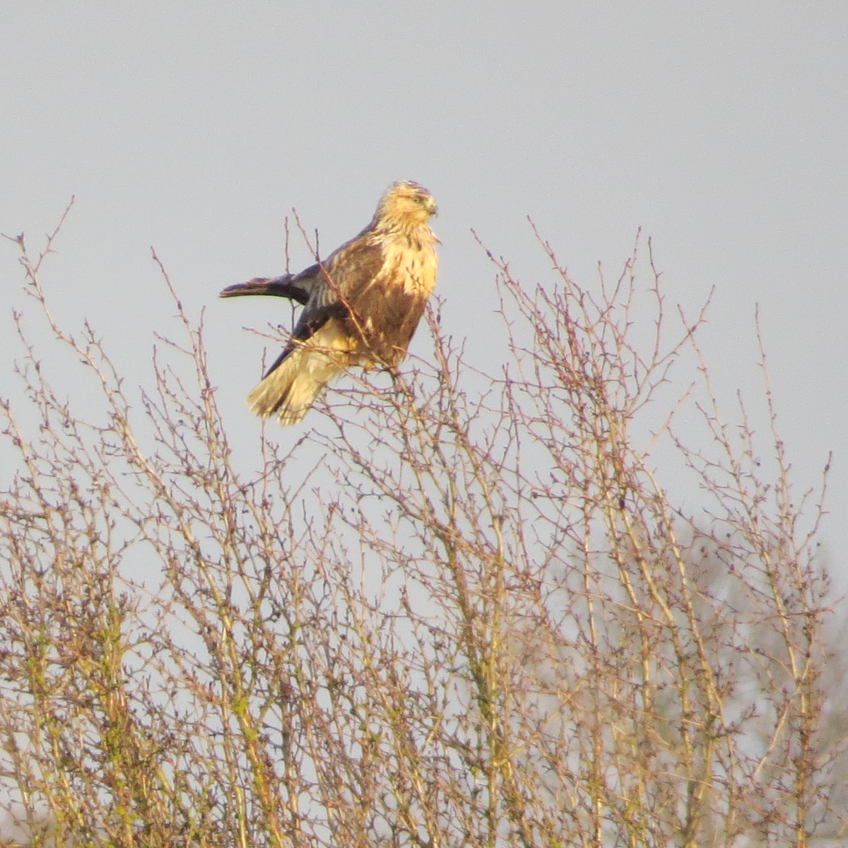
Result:
{"type": "MultiPolygon", "coordinates": [[[[0,231],[35,246],[75,195],[44,282],[129,382],[148,380],[173,312],[150,245],[187,308],[208,305],[222,403],[254,438],[262,344],[242,327],[284,315],[216,295],[282,272],[293,207],[329,249],[388,182],[421,181],[441,209],[446,326],[488,360],[501,351],[473,317],[496,307],[494,270],[472,227],[544,282],[531,215],[590,286],[641,226],[670,299],[716,287],[702,340],[728,400],[760,385],[761,304],[799,487],[836,452],[825,538],[845,567],[845,0],[4,3],[0,70],[0,231]]],[[[298,240],[292,259],[310,262],[298,240]]],[[[3,335],[25,305],[15,263],[0,248],[3,335]]],[[[5,397],[8,360],[0,373],[5,397]]]]}

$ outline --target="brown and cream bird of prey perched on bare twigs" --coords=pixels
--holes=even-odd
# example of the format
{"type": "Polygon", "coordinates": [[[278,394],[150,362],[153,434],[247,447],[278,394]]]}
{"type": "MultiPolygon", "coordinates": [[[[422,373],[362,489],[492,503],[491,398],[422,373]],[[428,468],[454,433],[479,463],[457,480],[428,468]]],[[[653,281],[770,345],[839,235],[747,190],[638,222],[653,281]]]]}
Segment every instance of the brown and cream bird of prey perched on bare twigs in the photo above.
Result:
{"type": "Polygon", "coordinates": [[[398,365],[436,284],[438,239],[427,224],[436,212],[427,189],[395,182],[371,223],[323,262],[220,293],[270,294],[304,304],[286,348],[248,395],[251,410],[294,424],[345,368],[398,365]]]}

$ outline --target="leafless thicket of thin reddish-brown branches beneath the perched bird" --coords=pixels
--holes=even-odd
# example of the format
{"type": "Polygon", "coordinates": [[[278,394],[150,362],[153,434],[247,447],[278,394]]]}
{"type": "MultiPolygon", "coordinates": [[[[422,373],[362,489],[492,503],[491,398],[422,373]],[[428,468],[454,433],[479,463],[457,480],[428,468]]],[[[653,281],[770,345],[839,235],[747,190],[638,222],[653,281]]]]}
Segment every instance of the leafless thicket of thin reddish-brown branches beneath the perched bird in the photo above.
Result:
{"type": "Polygon", "coordinates": [[[18,316],[0,493],[15,840],[844,838],[820,501],[795,499],[775,430],[722,418],[701,316],[667,314],[652,262],[639,287],[644,248],[592,292],[544,243],[543,286],[493,259],[502,371],[472,371],[433,311],[425,358],[354,373],[285,451],[272,427],[257,446],[227,432],[176,295],[181,336],[131,396],[94,329],[48,310],[55,235],[36,258],[17,240],[27,290],[96,402],[55,388],[18,316]],[[686,356],[700,380],[676,399],[686,356]]]}

